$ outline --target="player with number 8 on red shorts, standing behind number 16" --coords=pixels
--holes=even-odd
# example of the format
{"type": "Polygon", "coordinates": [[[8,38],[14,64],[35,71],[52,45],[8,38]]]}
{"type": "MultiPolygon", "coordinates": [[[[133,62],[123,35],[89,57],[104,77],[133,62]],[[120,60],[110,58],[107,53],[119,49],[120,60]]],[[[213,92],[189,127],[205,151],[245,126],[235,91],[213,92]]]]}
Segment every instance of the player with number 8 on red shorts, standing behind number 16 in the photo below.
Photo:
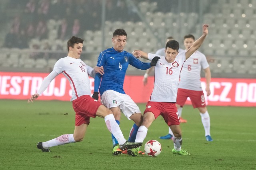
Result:
{"type": "MultiPolygon", "coordinates": [[[[194,41],[195,41],[195,37],[193,35],[189,34],[184,36],[184,45],[186,47],[186,51],[190,49],[194,41]]],[[[210,115],[206,108],[204,92],[202,90],[201,81],[200,81],[201,69],[203,69],[205,73],[205,78],[206,78],[205,91],[207,93],[207,96],[211,94],[211,91],[210,91],[211,72],[210,72],[209,64],[206,60],[206,56],[200,51],[196,51],[184,63],[182,71],[180,73],[180,84],[178,87],[176,106],[179,111],[179,108],[184,106],[187,98],[189,97],[192,102],[192,106],[194,108],[198,108],[200,112],[202,124],[204,126],[206,141],[213,141],[210,135],[210,115]]],[[[168,135],[172,135],[172,131],[170,127],[169,127],[168,135]]]]}

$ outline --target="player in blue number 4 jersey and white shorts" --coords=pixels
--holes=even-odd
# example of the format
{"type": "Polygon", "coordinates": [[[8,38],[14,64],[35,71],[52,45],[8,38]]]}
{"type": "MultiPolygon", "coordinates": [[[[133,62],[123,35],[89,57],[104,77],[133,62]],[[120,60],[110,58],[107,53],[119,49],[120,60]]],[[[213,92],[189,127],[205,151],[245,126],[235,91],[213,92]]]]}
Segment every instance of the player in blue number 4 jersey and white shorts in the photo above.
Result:
{"type": "MultiPolygon", "coordinates": [[[[100,91],[102,104],[114,113],[118,125],[120,124],[121,111],[129,120],[133,120],[134,125],[130,130],[129,141],[135,141],[143,117],[139,107],[124,92],[124,76],[129,64],[138,69],[146,70],[151,66],[155,66],[160,58],[154,57],[151,63],[144,63],[136,59],[131,53],[124,51],[126,36],[124,29],[116,29],[112,38],[114,47],[100,53],[97,66],[103,66],[104,74],[96,74],[92,98],[98,100],[98,91],[100,91]]],[[[113,135],[112,141],[113,155],[122,154],[117,139],[113,135]]]]}

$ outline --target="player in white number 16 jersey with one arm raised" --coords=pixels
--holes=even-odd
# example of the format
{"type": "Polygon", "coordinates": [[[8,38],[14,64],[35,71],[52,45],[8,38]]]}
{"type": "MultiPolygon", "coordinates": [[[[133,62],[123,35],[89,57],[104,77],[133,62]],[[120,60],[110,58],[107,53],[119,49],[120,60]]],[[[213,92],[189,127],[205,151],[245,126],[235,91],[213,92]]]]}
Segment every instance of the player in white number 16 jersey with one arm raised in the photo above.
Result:
{"type": "MultiPolygon", "coordinates": [[[[176,97],[180,72],[184,62],[202,45],[206,35],[208,34],[208,25],[203,25],[203,35],[197,39],[190,49],[185,53],[178,52],[178,41],[171,40],[166,43],[165,57],[159,56],[156,66],[154,66],[155,82],[154,89],[150,96],[150,101],[146,105],[144,111],[143,122],[136,135],[135,142],[143,142],[146,138],[148,128],[152,122],[162,115],[167,125],[172,129],[174,134],[172,140],[174,143],[173,154],[190,155],[184,149],[181,149],[182,134],[180,129],[180,118],[176,107],[176,97]],[[179,55],[178,55],[179,54],[179,55]]],[[[135,57],[152,60],[155,54],[145,53],[143,51],[134,51],[135,57]]],[[[128,154],[138,156],[139,148],[128,149],[128,154]]]]}

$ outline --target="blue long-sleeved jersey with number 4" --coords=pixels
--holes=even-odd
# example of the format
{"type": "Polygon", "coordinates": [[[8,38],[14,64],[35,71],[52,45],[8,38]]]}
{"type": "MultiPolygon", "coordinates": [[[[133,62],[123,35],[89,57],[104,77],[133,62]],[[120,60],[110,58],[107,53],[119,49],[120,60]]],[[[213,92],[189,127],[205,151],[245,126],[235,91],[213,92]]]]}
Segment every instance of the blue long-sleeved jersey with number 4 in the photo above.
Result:
{"type": "Polygon", "coordinates": [[[97,66],[103,66],[105,74],[103,76],[96,74],[94,92],[100,90],[100,95],[102,95],[106,90],[114,90],[125,94],[123,85],[128,64],[141,70],[151,67],[150,63],[138,60],[127,51],[118,52],[113,47],[102,51],[99,55],[97,66]]]}

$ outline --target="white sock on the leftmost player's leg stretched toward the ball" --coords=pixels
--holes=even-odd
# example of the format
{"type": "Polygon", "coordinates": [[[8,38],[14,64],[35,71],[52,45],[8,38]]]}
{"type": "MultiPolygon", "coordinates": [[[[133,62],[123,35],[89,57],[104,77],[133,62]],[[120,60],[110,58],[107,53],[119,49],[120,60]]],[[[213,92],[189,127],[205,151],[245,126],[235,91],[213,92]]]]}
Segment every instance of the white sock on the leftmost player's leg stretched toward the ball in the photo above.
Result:
{"type": "Polygon", "coordinates": [[[126,142],[126,139],[124,139],[124,135],[123,135],[119,125],[116,123],[114,115],[112,115],[112,114],[106,115],[105,122],[106,122],[108,130],[116,138],[118,143],[120,145],[124,144],[126,142]]]}

